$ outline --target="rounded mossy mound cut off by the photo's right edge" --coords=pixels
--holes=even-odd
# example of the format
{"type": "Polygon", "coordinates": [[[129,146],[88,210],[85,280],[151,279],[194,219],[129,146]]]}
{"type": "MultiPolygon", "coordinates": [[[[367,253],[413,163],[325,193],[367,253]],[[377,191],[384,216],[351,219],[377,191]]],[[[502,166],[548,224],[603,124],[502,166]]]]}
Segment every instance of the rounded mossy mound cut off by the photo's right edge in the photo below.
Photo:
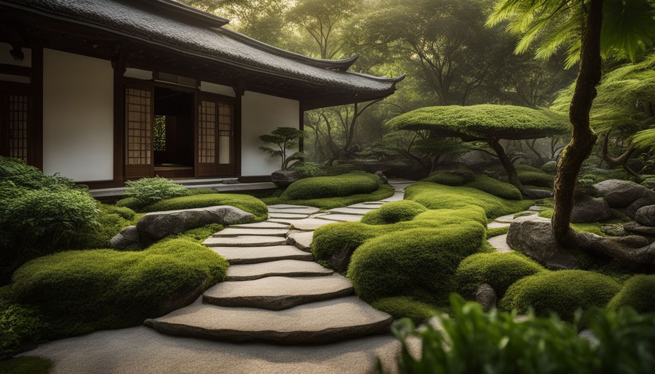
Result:
{"type": "Polygon", "coordinates": [[[618,309],[624,305],[633,307],[637,312],[655,312],[655,275],[635,275],[623,284],[623,288],[607,305],[618,309]]]}

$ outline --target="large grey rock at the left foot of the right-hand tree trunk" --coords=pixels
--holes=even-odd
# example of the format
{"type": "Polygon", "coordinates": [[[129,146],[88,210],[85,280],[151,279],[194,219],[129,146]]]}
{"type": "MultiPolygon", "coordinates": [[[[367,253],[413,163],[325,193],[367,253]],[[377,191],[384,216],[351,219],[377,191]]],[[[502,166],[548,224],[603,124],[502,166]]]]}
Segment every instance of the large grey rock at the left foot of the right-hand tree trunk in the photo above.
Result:
{"type": "Polygon", "coordinates": [[[578,260],[555,240],[550,219],[527,215],[512,221],[507,244],[549,269],[578,269],[578,260]]]}

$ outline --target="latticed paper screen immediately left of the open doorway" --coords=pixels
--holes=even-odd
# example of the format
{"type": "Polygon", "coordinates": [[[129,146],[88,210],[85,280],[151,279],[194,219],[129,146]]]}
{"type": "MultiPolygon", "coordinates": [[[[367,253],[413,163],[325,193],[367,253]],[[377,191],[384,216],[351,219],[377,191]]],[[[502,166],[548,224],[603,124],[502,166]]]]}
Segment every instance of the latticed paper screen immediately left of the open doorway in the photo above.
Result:
{"type": "Polygon", "coordinates": [[[152,150],[151,93],[149,90],[127,88],[127,163],[149,165],[152,150]]]}

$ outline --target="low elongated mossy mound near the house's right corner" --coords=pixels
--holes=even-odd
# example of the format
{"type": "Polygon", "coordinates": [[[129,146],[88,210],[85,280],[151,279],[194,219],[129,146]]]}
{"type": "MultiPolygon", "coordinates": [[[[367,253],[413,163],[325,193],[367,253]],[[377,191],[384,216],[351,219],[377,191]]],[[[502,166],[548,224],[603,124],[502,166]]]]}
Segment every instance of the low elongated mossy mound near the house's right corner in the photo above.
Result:
{"type": "Polygon", "coordinates": [[[375,174],[352,172],[341,176],[300,179],[291,183],[281,197],[296,200],[348,196],[371,193],[379,187],[380,178],[375,174]]]}

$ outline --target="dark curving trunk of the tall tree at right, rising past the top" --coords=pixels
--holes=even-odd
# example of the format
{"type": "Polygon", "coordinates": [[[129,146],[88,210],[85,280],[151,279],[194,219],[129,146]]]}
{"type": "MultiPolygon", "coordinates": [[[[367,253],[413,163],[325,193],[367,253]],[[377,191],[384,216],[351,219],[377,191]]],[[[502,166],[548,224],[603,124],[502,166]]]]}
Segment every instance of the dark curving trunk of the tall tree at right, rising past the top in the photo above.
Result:
{"type": "Polygon", "coordinates": [[[580,71],[569,107],[572,138],[557,162],[553,190],[553,233],[564,247],[571,246],[569,220],[573,210],[573,197],[582,162],[589,157],[598,138],[589,126],[589,111],[596,97],[596,86],[601,80],[601,26],[603,0],[589,1],[587,22],[582,33],[580,71]]]}

